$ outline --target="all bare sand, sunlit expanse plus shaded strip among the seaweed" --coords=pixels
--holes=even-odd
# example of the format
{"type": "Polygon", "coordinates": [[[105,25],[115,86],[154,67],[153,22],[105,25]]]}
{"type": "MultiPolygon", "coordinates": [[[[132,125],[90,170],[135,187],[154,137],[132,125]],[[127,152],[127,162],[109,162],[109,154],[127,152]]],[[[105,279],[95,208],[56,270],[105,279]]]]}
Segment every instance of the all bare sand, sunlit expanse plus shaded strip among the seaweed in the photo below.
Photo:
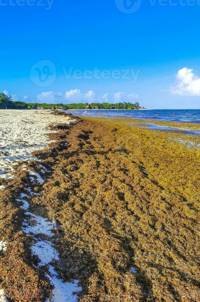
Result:
{"type": "MultiPolygon", "coordinates": [[[[48,110],[0,110],[0,178],[14,178],[10,172],[15,173],[14,161],[32,161],[37,158],[31,156],[36,150],[42,150],[52,141],[49,140],[47,133],[55,133],[48,128],[50,125],[76,123],[76,120],[69,117],[53,115],[48,110]]],[[[50,172],[45,167],[41,173],[50,172]]],[[[23,165],[26,170],[27,166],[23,165]]],[[[40,174],[29,171],[29,178],[33,184],[44,182],[40,174]]],[[[4,190],[5,186],[0,186],[4,190]]],[[[16,202],[22,202],[21,208],[25,210],[27,218],[23,223],[23,231],[33,236],[35,244],[31,247],[34,255],[40,259],[39,266],[48,265],[47,275],[54,286],[51,301],[77,301],[77,296],[73,292],[80,291],[78,280],[64,283],[52,266],[52,260],[59,261],[59,254],[53,247],[54,223],[48,219],[35,215],[28,211],[29,201],[34,193],[28,188],[30,196],[21,193],[16,202]],[[45,239],[44,239],[45,238],[45,239]]],[[[0,251],[5,251],[6,242],[0,241],[0,251]]],[[[3,289],[0,289],[0,302],[8,301],[3,289]]]]}

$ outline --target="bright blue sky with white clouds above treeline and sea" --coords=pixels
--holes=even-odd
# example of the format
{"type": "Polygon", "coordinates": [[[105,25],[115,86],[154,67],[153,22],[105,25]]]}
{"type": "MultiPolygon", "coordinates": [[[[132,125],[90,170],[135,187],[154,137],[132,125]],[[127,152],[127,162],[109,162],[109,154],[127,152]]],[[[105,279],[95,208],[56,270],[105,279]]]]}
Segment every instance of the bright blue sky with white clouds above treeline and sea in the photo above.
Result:
{"type": "Polygon", "coordinates": [[[198,0],[143,0],[133,13],[124,0],[0,0],[0,10],[0,91],[13,99],[200,108],[198,0]]]}

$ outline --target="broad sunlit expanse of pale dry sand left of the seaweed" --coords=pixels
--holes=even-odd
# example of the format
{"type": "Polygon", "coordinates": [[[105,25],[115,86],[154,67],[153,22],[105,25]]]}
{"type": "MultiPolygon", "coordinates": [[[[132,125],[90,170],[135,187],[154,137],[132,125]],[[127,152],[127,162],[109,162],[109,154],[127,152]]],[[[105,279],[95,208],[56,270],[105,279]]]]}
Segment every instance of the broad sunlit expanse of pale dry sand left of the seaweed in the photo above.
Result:
{"type": "Polygon", "coordinates": [[[14,178],[9,173],[15,171],[13,161],[35,160],[31,153],[51,143],[47,133],[55,131],[48,129],[50,125],[73,122],[76,120],[53,115],[50,110],[0,110],[0,178],[14,178]]]}

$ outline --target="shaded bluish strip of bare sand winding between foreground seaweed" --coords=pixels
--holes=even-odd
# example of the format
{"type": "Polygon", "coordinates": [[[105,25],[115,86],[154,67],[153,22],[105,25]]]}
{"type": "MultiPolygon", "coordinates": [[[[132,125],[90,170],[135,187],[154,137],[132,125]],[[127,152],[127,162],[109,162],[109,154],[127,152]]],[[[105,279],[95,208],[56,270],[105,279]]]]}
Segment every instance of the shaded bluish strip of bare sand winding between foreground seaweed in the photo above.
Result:
{"type": "MultiPolygon", "coordinates": [[[[33,194],[31,189],[29,189],[29,193],[33,194]]],[[[22,198],[27,197],[26,194],[21,194],[21,199],[16,199],[16,201],[23,202],[23,206],[21,206],[24,210],[28,210],[29,203],[22,198]]],[[[48,219],[43,218],[39,215],[35,215],[29,211],[26,212],[27,219],[24,223],[23,231],[29,235],[33,235],[34,241],[36,242],[32,247],[31,251],[33,255],[37,255],[40,259],[39,266],[48,265],[48,273],[52,285],[54,286],[52,290],[51,302],[77,302],[77,295],[73,295],[73,292],[81,291],[81,287],[78,286],[78,280],[73,280],[73,282],[63,282],[59,279],[54,267],[52,266],[52,260],[59,261],[59,254],[56,249],[53,247],[52,239],[53,239],[53,231],[54,224],[53,222],[48,221],[48,219]],[[36,235],[36,236],[35,236],[36,235]],[[44,238],[44,235],[46,239],[44,238]]],[[[48,302],[50,302],[48,300],[48,302]]]]}

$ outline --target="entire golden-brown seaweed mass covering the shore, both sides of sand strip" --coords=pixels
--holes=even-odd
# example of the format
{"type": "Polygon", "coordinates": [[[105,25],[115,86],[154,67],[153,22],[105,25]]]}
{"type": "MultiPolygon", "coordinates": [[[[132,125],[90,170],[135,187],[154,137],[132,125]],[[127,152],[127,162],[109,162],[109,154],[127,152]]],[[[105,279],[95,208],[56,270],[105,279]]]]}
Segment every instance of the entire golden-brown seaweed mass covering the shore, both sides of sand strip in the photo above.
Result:
{"type": "MultiPolygon", "coordinates": [[[[80,302],[199,301],[200,150],[176,141],[181,134],[132,127],[126,118],[77,120],[52,127],[57,141],[35,153],[52,173],[34,188],[41,194],[32,207],[59,224],[60,276],[80,280],[80,302]]],[[[40,172],[37,162],[29,167],[40,172]]],[[[19,166],[6,195],[0,192],[0,211],[7,211],[0,235],[10,243],[0,279],[14,301],[44,301],[50,285],[35,269],[14,203],[26,173],[19,166]]]]}

